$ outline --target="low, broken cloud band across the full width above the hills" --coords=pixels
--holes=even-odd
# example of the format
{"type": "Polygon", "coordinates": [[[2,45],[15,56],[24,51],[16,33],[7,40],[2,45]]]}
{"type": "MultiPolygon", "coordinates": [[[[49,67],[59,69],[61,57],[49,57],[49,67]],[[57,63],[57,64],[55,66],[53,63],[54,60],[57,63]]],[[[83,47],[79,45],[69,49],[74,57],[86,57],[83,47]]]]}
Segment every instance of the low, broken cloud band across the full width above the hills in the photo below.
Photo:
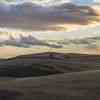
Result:
{"type": "MultiPolygon", "coordinates": [[[[41,33],[42,34],[42,33],[41,33]]],[[[97,49],[100,37],[68,38],[64,40],[45,40],[35,36],[35,33],[22,34],[18,33],[0,33],[0,46],[17,46],[31,48],[33,46],[50,47],[50,48],[70,48],[71,45],[85,49],[97,49]]]]}

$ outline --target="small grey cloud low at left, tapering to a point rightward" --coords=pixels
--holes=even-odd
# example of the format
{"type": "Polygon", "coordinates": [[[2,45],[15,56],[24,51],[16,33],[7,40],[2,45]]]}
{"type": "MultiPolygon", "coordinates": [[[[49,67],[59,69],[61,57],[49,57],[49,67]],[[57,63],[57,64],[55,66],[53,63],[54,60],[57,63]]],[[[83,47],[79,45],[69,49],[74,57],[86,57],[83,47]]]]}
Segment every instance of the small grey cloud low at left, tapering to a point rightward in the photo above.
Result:
{"type": "Polygon", "coordinates": [[[62,48],[61,45],[50,44],[50,43],[47,43],[46,41],[39,40],[32,35],[24,36],[22,34],[20,34],[19,37],[14,37],[14,36],[10,35],[10,36],[6,37],[6,39],[0,37],[0,46],[4,46],[4,45],[25,47],[25,48],[29,48],[32,46],[62,48]]]}

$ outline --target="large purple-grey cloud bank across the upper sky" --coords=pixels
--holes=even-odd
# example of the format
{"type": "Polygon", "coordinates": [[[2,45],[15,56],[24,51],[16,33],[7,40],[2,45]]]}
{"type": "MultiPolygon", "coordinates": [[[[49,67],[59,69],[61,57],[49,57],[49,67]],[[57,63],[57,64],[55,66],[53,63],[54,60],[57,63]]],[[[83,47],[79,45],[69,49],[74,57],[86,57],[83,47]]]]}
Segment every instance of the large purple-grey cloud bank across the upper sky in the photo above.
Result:
{"type": "Polygon", "coordinates": [[[0,7],[0,27],[32,31],[57,31],[62,29],[59,25],[63,24],[88,25],[98,16],[90,7],[70,3],[48,7],[33,3],[0,7]]]}

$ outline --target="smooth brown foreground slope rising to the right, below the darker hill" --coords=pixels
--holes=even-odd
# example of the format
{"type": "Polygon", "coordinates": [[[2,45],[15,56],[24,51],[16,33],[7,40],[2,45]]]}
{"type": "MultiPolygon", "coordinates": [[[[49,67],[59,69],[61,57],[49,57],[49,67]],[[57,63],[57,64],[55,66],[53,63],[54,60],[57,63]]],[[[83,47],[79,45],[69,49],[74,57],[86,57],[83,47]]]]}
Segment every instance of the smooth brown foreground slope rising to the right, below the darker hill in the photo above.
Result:
{"type": "Polygon", "coordinates": [[[0,88],[0,100],[100,100],[100,70],[16,79],[0,88]]]}

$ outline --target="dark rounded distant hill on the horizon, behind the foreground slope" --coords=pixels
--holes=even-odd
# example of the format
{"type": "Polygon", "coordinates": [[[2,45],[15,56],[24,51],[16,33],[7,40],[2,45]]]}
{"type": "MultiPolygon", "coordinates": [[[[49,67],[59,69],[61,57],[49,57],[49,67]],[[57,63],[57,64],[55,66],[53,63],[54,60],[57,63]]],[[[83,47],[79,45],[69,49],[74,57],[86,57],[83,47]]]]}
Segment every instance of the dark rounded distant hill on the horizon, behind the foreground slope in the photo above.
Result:
{"type": "Polygon", "coordinates": [[[0,76],[33,77],[100,69],[100,56],[45,52],[1,59],[0,76]]]}

